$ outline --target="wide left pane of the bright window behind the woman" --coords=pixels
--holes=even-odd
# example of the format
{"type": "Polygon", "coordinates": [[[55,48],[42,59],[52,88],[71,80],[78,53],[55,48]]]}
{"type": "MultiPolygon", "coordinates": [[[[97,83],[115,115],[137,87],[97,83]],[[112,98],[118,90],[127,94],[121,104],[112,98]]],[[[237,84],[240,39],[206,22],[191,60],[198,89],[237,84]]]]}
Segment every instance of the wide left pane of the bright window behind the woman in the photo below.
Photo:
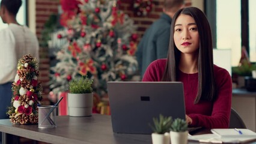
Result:
{"type": "Polygon", "coordinates": [[[237,66],[241,57],[240,0],[216,0],[216,47],[231,49],[231,65],[237,66]]]}

